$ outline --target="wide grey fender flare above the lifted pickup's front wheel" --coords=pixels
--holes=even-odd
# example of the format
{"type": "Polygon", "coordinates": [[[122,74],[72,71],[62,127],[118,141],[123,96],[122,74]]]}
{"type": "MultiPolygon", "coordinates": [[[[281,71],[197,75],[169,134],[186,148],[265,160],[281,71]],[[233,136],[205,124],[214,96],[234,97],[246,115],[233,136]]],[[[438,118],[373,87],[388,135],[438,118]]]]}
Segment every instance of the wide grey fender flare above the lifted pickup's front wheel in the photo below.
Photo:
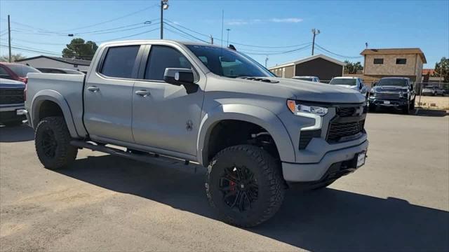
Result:
{"type": "Polygon", "coordinates": [[[210,132],[221,120],[242,120],[263,127],[274,139],[281,160],[295,162],[295,148],[286,127],[272,111],[253,105],[223,104],[208,111],[201,120],[196,144],[201,165],[207,165],[210,132]]]}

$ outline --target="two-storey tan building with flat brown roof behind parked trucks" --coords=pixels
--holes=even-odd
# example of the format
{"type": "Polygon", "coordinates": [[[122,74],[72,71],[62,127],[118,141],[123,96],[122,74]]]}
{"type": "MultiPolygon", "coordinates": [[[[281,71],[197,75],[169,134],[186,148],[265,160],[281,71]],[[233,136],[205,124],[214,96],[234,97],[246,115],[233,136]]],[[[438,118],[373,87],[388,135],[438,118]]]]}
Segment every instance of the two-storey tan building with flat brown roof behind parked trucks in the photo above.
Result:
{"type": "Polygon", "coordinates": [[[427,63],[420,48],[366,49],[361,55],[365,57],[363,79],[401,76],[420,82],[422,65],[427,63]]]}

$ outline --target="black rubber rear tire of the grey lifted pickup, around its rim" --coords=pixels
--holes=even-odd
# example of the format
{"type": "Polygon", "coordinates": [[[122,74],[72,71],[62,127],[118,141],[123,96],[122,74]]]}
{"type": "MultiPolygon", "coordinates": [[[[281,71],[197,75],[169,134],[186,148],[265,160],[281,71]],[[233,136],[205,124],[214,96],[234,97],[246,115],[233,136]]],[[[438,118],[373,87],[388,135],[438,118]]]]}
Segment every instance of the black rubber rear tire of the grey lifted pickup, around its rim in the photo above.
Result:
{"type": "Polygon", "coordinates": [[[48,169],[60,169],[67,167],[76,159],[78,148],[70,145],[69,130],[62,117],[43,118],[36,127],[34,136],[34,145],[36,147],[37,157],[42,165],[48,169]],[[44,151],[44,134],[53,132],[55,139],[54,156],[46,155],[44,151]],[[45,133],[44,133],[45,132],[45,133]]]}

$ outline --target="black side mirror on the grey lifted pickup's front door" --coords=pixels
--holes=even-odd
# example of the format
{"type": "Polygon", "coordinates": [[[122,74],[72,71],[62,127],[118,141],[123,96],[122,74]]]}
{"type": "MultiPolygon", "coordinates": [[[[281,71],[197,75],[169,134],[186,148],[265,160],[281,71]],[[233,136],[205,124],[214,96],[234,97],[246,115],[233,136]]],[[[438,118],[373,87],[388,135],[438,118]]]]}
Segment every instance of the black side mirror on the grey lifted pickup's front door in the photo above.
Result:
{"type": "Polygon", "coordinates": [[[163,73],[163,80],[172,85],[183,85],[185,90],[187,90],[187,94],[198,90],[198,85],[194,83],[194,72],[192,69],[166,68],[165,73],[163,73]]]}

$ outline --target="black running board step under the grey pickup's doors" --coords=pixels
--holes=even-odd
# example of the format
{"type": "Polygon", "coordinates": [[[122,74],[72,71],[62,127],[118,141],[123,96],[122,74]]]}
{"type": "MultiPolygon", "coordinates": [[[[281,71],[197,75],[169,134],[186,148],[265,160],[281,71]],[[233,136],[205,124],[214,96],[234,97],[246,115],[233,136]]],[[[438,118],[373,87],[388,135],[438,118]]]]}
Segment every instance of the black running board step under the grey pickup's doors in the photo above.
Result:
{"type": "Polygon", "coordinates": [[[192,163],[192,165],[189,165],[189,160],[177,160],[175,158],[168,158],[165,156],[161,156],[159,154],[135,154],[135,153],[129,153],[123,150],[120,150],[118,148],[112,148],[107,146],[100,146],[96,144],[91,144],[86,141],[79,141],[79,140],[72,140],[70,141],[70,144],[72,146],[76,146],[79,148],[86,148],[92,151],[100,151],[102,153],[107,153],[111,155],[116,155],[122,158],[130,158],[132,160],[137,160],[140,162],[147,162],[152,165],[163,165],[163,166],[170,166],[170,167],[178,167],[185,169],[185,167],[192,167],[194,168],[196,172],[197,167],[201,167],[199,164],[192,163]]]}

